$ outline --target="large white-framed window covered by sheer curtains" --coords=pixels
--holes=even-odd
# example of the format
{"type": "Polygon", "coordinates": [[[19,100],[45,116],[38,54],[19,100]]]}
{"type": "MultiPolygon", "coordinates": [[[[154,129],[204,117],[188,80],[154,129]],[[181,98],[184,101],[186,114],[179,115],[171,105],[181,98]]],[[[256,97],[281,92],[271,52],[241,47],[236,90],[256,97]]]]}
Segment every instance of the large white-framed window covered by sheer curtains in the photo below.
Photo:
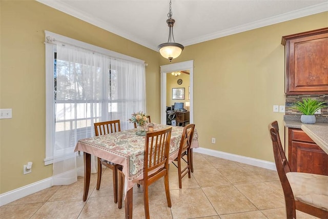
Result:
{"type": "Polygon", "coordinates": [[[146,111],[144,61],[46,31],[46,158],[94,135],[93,123],[146,111]]]}

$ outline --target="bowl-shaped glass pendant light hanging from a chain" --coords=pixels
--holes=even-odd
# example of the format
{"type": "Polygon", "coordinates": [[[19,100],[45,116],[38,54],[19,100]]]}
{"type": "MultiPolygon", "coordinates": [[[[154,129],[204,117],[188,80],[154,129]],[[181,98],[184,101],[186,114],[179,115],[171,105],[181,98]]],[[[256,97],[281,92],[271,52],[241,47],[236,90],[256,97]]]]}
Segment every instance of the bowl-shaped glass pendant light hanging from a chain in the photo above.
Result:
{"type": "Polygon", "coordinates": [[[166,23],[169,26],[169,39],[167,43],[162,43],[158,45],[158,51],[161,54],[161,56],[168,58],[170,62],[172,61],[173,58],[178,57],[182,50],[183,46],[181,44],[175,43],[174,41],[174,35],[173,35],[173,25],[175,23],[175,19],[172,18],[172,2],[170,0],[170,8],[169,8],[169,13],[168,17],[169,19],[166,20],[166,23]],[[173,42],[172,42],[173,39],[173,42]]]}

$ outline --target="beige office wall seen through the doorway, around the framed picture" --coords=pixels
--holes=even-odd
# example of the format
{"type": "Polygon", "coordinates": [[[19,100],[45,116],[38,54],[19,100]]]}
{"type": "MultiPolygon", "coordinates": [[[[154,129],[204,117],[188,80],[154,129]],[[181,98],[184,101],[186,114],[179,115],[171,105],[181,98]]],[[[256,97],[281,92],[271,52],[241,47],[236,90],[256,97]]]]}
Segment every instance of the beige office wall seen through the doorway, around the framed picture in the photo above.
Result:
{"type": "Polygon", "coordinates": [[[166,106],[170,107],[175,102],[183,102],[183,107],[186,108],[186,102],[190,102],[188,99],[188,87],[190,86],[189,74],[181,73],[179,76],[167,74],[166,79],[166,106]],[[182,79],[181,85],[178,85],[178,79],[182,79]],[[185,88],[185,99],[172,99],[172,88],[185,88]]]}

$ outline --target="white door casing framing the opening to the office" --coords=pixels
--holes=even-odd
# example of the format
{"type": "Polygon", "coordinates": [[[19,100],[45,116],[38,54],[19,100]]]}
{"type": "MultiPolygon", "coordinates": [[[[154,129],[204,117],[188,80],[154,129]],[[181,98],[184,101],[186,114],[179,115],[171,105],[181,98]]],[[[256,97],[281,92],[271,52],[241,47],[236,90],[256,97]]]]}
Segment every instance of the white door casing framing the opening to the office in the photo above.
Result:
{"type": "Polygon", "coordinates": [[[186,61],[181,63],[174,63],[160,66],[160,123],[166,125],[166,107],[167,107],[167,74],[173,71],[189,71],[190,79],[190,123],[194,122],[194,101],[193,101],[193,87],[194,87],[194,61],[186,61]]]}

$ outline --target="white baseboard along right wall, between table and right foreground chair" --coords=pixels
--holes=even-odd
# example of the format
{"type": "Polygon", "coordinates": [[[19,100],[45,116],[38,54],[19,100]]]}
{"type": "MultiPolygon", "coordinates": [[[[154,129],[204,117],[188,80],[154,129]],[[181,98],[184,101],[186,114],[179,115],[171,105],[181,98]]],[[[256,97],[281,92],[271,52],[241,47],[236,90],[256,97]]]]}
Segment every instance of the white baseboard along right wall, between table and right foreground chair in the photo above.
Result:
{"type": "Polygon", "coordinates": [[[229,161],[236,161],[236,162],[239,162],[239,163],[249,164],[249,165],[253,165],[253,166],[256,166],[256,167],[262,167],[262,168],[265,168],[265,169],[277,170],[275,163],[268,162],[268,161],[263,161],[263,160],[258,160],[256,158],[252,158],[252,157],[241,156],[241,155],[237,155],[237,154],[231,154],[231,153],[216,151],[216,150],[207,149],[207,148],[194,148],[193,151],[197,152],[197,153],[202,153],[202,154],[207,154],[207,155],[211,155],[211,156],[215,156],[215,157],[220,157],[220,158],[223,158],[223,159],[226,159],[226,160],[229,160],[229,161]]]}

